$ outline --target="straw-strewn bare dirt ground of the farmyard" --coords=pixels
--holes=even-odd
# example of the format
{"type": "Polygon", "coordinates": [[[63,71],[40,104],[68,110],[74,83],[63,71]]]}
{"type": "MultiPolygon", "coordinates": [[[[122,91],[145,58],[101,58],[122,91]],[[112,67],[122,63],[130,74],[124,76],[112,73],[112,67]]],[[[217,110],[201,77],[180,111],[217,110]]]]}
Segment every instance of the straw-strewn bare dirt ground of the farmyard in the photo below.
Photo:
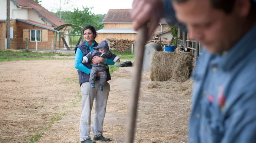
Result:
{"type": "MultiPolygon", "coordinates": [[[[73,63],[0,63],[1,143],[28,142],[37,133],[43,133],[38,143],[79,143],[81,91],[73,63]]],[[[112,143],[124,142],[132,71],[132,67],[120,67],[109,81],[104,136],[112,143]]],[[[135,143],[187,141],[191,85],[190,80],[150,82],[149,73],[143,73],[135,143]]]]}

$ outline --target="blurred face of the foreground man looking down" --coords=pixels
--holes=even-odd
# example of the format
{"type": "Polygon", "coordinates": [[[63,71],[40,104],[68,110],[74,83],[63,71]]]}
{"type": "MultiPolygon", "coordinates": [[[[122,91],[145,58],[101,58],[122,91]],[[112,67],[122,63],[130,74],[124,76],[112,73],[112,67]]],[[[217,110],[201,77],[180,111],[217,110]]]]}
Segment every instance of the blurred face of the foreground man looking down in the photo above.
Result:
{"type": "Polygon", "coordinates": [[[238,13],[213,8],[211,0],[173,2],[176,17],[187,25],[190,39],[198,40],[212,54],[230,49],[237,37],[238,13]]]}

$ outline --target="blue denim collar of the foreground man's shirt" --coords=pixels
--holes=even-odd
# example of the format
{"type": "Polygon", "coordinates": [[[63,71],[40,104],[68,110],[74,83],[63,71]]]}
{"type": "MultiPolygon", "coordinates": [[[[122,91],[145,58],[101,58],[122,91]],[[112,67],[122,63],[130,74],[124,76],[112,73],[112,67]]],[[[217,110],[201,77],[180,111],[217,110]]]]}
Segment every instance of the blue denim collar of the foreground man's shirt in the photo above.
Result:
{"type": "Polygon", "coordinates": [[[256,48],[256,24],[229,50],[221,55],[212,55],[211,66],[220,64],[224,71],[232,70],[236,64],[256,48]]]}

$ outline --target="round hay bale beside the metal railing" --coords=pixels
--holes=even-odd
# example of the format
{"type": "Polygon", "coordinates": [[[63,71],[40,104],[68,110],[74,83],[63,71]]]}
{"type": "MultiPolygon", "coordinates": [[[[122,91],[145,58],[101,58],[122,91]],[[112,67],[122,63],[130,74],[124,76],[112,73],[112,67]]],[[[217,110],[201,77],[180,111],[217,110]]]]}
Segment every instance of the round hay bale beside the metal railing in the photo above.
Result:
{"type": "Polygon", "coordinates": [[[150,61],[151,81],[184,82],[193,69],[193,55],[190,52],[153,52],[150,61]]]}

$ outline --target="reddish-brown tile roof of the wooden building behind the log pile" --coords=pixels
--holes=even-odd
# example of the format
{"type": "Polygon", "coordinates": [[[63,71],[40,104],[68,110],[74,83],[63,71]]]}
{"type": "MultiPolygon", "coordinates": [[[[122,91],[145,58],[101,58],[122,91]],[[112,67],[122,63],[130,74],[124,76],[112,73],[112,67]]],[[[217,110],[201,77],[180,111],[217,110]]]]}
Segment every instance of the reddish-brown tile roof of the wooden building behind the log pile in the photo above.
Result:
{"type": "MultiPolygon", "coordinates": [[[[102,20],[103,23],[132,23],[132,9],[111,9],[102,20]]],[[[166,23],[164,18],[161,18],[160,23],[166,23]]]]}

